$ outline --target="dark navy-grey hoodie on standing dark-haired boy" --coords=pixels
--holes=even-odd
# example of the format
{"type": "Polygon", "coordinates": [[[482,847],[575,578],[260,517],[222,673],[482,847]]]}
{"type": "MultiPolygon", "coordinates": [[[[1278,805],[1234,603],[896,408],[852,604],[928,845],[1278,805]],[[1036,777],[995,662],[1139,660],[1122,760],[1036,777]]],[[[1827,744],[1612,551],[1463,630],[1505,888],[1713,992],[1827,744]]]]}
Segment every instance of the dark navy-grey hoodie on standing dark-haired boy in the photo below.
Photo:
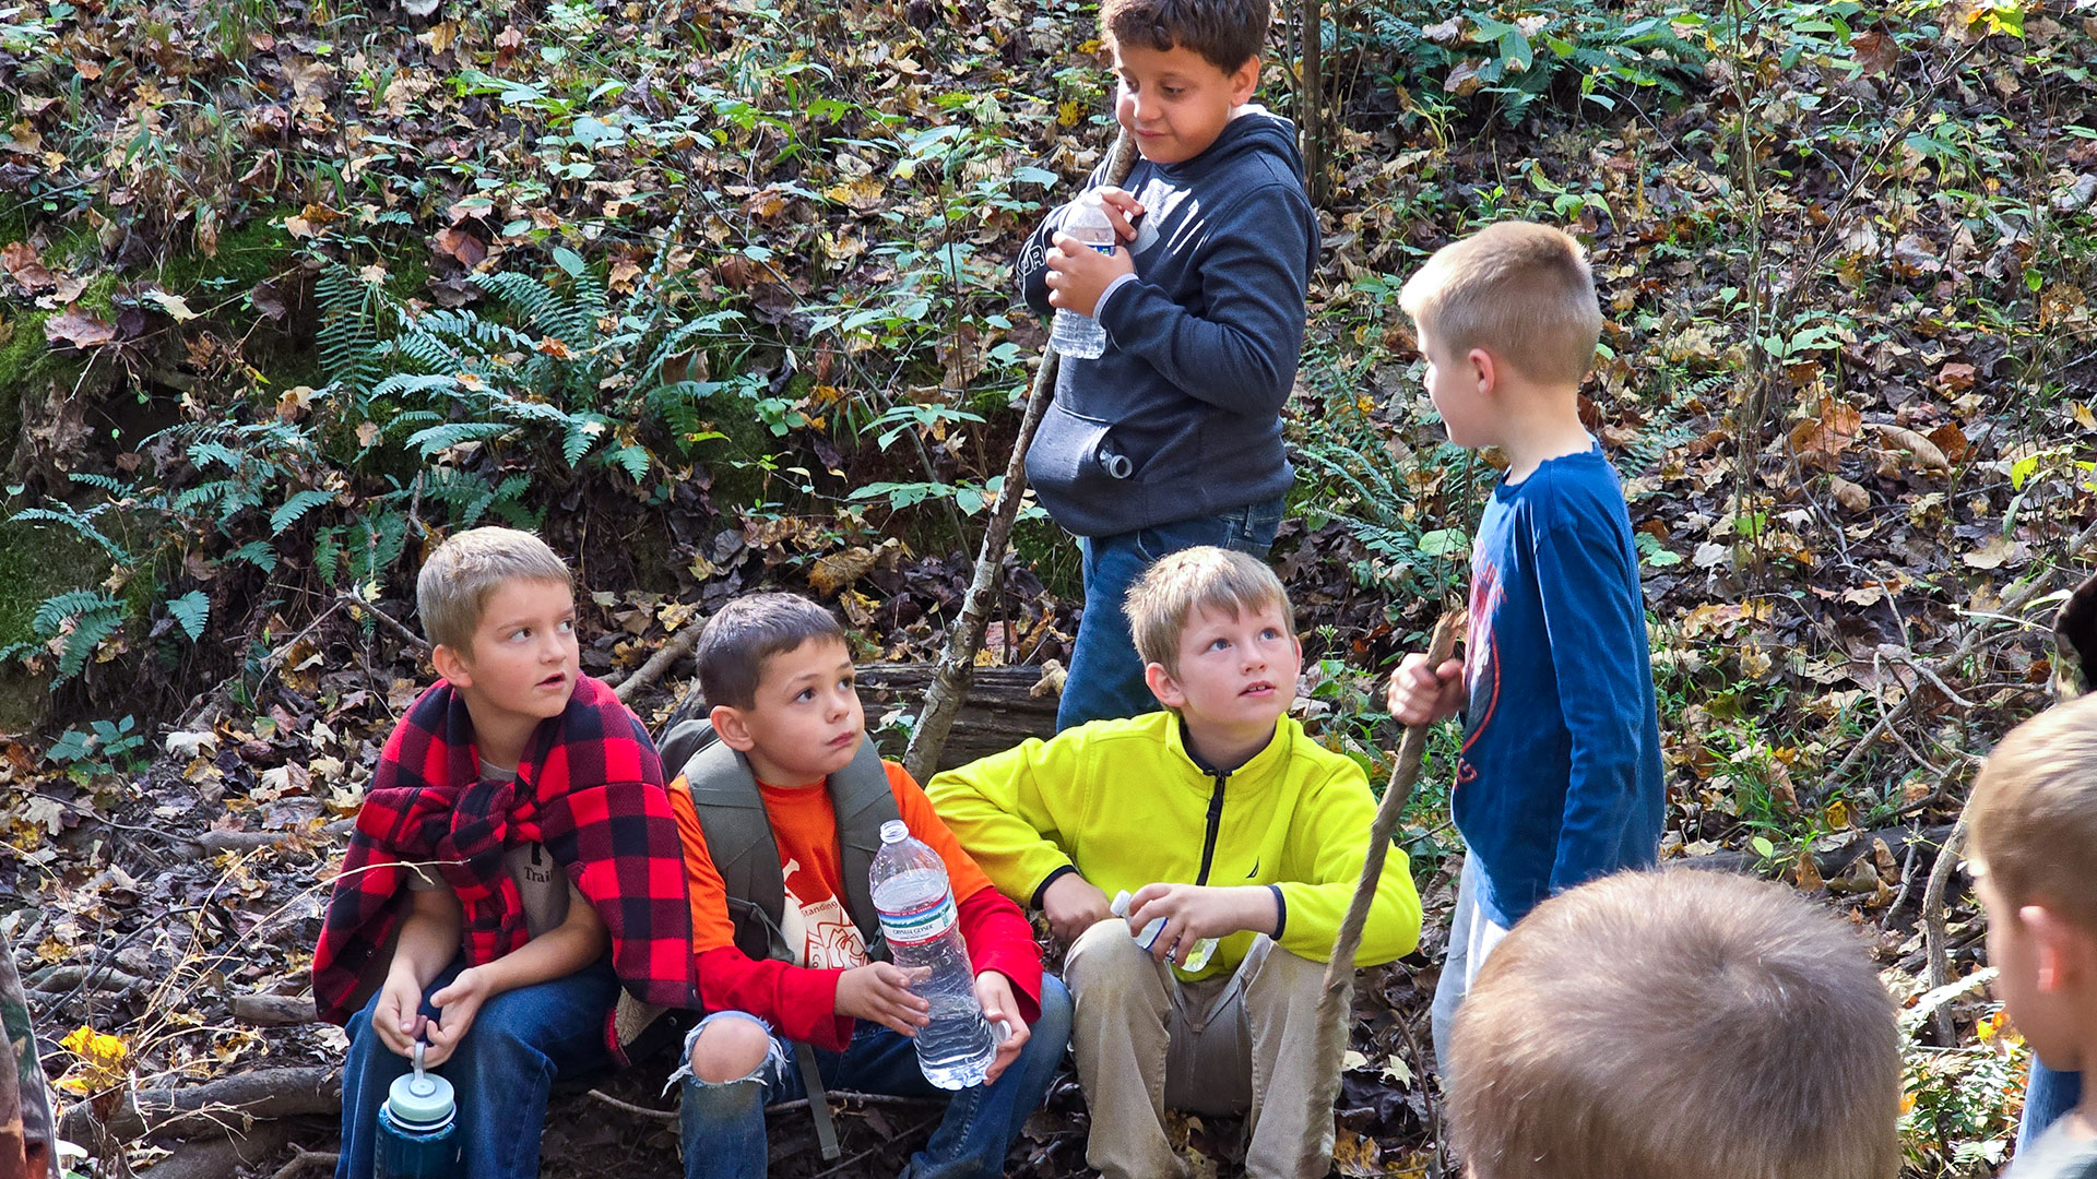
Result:
{"type": "MultiPolygon", "coordinates": [[[[1099,183],[1095,170],[1086,187],[1099,183]]],[[[1063,359],[1028,449],[1042,506],[1084,537],[1273,499],[1296,476],[1281,405],[1319,250],[1296,126],[1248,107],[1202,155],[1141,159],[1124,187],[1145,210],[1130,248],[1137,279],[1099,308],[1105,355],[1063,359]]],[[[1019,254],[1021,294],[1044,317],[1044,256],[1067,210],[1048,214],[1019,254]]]]}

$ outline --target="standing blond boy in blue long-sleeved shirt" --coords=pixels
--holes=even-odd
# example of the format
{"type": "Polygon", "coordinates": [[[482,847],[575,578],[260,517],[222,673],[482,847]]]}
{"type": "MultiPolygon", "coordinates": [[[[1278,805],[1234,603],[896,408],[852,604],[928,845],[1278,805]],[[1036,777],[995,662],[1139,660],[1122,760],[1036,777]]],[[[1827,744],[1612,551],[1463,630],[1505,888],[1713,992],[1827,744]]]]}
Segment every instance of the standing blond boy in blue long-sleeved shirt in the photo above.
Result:
{"type": "Polygon", "coordinates": [[[1464,711],[1451,810],[1470,856],[1432,1007],[1447,1087],[1449,1028],[1485,957],[1543,898],[1650,866],[1667,789],[1631,522],[1579,422],[1602,334],[1585,252],[1501,222],[1436,252],[1399,304],[1449,441],[1508,457],[1470,554],[1466,657],[1407,655],[1388,692],[1405,724],[1464,711]]]}

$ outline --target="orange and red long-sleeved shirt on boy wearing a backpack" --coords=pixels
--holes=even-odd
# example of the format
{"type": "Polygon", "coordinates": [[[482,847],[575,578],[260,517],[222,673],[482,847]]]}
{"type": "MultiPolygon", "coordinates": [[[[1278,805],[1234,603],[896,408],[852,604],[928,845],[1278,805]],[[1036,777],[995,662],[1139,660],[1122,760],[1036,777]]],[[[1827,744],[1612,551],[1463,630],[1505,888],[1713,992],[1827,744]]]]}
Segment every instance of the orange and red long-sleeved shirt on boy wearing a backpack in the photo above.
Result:
{"type": "MultiPolygon", "coordinates": [[[[895,812],[910,827],[910,835],[923,839],[946,864],[973,967],[996,969],[1011,978],[1015,992],[1032,1007],[1032,999],[1040,992],[1040,955],[1025,915],[992,887],[990,877],[960,848],[910,774],[893,762],[883,762],[883,768],[895,795],[895,812]]],[[[841,1049],[851,1038],[851,1020],[837,1017],[837,976],[866,965],[868,957],[866,940],[845,913],[843,860],[830,791],[822,783],[805,787],[757,783],[757,793],[763,797],[772,839],[780,852],[780,875],[786,883],[780,931],[795,952],[793,963],[757,961],[736,948],[728,889],[707,852],[690,789],[682,776],[669,787],[692,896],[692,952],[698,955],[700,1003],[709,1011],[749,1011],[786,1038],[841,1049]]]]}

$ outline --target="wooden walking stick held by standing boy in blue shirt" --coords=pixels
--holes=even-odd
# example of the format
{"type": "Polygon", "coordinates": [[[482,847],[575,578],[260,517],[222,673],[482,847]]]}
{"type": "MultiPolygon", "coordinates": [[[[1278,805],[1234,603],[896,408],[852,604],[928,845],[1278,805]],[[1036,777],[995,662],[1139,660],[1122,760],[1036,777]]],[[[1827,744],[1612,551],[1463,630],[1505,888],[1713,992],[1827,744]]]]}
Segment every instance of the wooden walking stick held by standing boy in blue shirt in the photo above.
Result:
{"type": "MultiPolygon", "coordinates": [[[[1428,667],[1441,667],[1455,652],[1455,634],[1464,625],[1464,610],[1443,610],[1434,623],[1434,638],[1428,640],[1428,667]]],[[[1329,1166],[1325,1156],[1325,1131],[1332,1129],[1332,1108],[1340,1097],[1340,1062],[1346,1055],[1346,1026],[1355,1005],[1355,950],[1361,948],[1361,927],[1369,919],[1369,902],[1376,900],[1376,885],[1384,879],[1384,856],[1390,852],[1390,833],[1399,829],[1399,816],[1413,797],[1413,783],[1420,780],[1420,762],[1428,751],[1428,724],[1405,726],[1399,743],[1399,764],[1390,768],[1390,785],[1384,787],[1384,801],[1376,806],[1376,820],[1369,824],[1369,852],[1361,860],[1361,881],[1355,883],[1355,898],[1340,919],[1340,934],[1332,942],[1332,961],[1325,963],[1325,986],[1317,999],[1317,1041],[1319,1062],[1317,1087],[1311,1091],[1311,1129],[1304,1131],[1302,1160],[1298,1173],[1306,1179],[1321,1179],[1329,1166]]]]}

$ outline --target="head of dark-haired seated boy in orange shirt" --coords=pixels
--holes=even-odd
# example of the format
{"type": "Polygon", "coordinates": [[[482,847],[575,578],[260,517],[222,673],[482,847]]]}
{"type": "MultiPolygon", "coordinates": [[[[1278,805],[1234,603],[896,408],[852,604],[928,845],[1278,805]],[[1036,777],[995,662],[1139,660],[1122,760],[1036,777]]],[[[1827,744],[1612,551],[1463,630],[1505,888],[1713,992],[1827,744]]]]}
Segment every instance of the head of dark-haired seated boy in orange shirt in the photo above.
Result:
{"type": "Polygon", "coordinates": [[[814,785],[860,751],[866,713],[830,610],[797,594],[747,594],[707,621],[694,655],[713,730],[757,780],[814,785]]]}

